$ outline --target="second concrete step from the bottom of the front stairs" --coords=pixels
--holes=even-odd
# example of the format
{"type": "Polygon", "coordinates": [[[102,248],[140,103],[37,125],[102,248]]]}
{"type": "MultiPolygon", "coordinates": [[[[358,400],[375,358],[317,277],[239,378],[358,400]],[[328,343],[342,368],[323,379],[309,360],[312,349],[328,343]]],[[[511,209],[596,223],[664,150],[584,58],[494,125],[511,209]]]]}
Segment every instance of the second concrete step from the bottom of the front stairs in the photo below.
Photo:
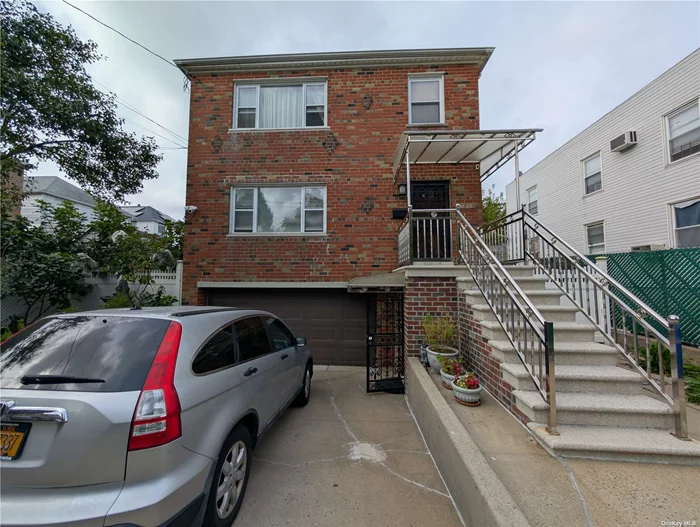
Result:
{"type": "MultiPolygon", "coordinates": [[[[536,423],[546,423],[549,405],[539,392],[514,390],[518,409],[536,423]]],[[[673,427],[673,412],[666,403],[647,395],[557,392],[557,421],[562,425],[627,428],[673,427]]]]}

